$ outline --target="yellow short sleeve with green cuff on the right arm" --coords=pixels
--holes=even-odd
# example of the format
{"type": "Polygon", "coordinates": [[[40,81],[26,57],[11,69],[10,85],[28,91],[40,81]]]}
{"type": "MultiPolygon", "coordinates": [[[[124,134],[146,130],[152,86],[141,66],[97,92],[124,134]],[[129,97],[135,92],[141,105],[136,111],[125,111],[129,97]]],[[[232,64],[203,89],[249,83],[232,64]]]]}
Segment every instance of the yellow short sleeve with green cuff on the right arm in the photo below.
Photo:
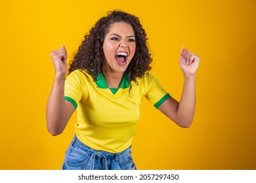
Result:
{"type": "Polygon", "coordinates": [[[148,99],[148,101],[150,101],[150,103],[152,103],[154,107],[160,107],[160,105],[166,99],[171,97],[171,95],[165,91],[165,89],[155,76],[148,73],[147,82],[148,93],[146,93],[146,99],[148,99]]]}

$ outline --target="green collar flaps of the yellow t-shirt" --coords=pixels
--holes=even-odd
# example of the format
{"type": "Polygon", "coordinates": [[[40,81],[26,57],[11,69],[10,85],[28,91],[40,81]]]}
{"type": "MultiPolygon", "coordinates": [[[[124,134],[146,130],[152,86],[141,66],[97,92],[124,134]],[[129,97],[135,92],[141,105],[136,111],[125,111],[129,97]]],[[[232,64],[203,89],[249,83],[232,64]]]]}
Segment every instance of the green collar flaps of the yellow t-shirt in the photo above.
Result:
{"type": "MultiPolygon", "coordinates": [[[[96,83],[96,86],[98,86],[98,88],[103,88],[103,89],[108,88],[108,84],[106,83],[106,80],[102,73],[97,76],[97,80],[95,83],[96,83]]],[[[129,88],[129,87],[130,87],[129,78],[127,76],[127,73],[125,72],[125,75],[123,75],[123,79],[121,80],[121,84],[119,88],[129,88]]],[[[111,89],[112,88],[110,88],[110,90],[111,89]]]]}

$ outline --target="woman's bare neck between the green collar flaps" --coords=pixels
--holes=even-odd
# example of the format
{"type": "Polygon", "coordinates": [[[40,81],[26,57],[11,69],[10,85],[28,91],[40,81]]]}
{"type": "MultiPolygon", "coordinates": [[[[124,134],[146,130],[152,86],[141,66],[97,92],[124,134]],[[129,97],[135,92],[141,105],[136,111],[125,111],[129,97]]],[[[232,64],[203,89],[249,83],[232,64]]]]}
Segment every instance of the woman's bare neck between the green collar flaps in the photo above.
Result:
{"type": "Polygon", "coordinates": [[[108,88],[119,88],[124,73],[112,73],[103,71],[104,78],[108,84],[108,88]]]}

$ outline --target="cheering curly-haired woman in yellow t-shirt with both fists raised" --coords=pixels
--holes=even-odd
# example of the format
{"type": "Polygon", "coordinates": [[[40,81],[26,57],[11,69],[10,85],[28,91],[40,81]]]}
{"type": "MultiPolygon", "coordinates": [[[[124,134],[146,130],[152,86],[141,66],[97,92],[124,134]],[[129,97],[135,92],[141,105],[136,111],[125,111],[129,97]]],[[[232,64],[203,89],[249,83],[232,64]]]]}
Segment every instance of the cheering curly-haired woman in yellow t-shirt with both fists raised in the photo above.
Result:
{"type": "Polygon", "coordinates": [[[100,18],[70,63],[62,46],[51,52],[55,77],[47,103],[47,128],[62,133],[77,108],[75,137],[62,169],[136,169],[131,142],[146,97],[181,127],[190,127],[200,58],[182,48],[184,88],[180,102],[148,73],[152,58],[139,18],[119,10],[100,18]]]}

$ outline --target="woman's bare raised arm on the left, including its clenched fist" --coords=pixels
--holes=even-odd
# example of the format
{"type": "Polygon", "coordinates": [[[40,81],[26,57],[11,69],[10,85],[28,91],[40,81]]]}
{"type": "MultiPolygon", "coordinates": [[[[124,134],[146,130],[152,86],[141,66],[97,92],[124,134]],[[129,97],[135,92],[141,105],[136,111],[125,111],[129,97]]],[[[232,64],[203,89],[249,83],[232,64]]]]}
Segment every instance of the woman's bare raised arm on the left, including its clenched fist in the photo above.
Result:
{"type": "Polygon", "coordinates": [[[75,107],[64,99],[64,82],[67,72],[67,52],[65,46],[50,54],[53,60],[55,76],[53,88],[49,95],[46,108],[47,129],[51,135],[59,135],[64,131],[75,107]]]}

